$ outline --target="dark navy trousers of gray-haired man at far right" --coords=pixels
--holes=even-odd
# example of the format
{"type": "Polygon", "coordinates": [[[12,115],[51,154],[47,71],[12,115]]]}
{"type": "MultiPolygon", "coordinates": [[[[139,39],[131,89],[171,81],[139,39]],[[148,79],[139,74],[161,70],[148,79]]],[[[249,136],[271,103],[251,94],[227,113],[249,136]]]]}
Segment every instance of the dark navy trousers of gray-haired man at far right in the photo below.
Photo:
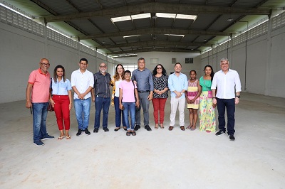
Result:
{"type": "Polygon", "coordinates": [[[219,130],[226,132],[226,121],[224,119],[224,111],[227,108],[227,134],[234,135],[234,112],[236,110],[234,99],[217,98],[217,109],[219,113],[219,130]]]}

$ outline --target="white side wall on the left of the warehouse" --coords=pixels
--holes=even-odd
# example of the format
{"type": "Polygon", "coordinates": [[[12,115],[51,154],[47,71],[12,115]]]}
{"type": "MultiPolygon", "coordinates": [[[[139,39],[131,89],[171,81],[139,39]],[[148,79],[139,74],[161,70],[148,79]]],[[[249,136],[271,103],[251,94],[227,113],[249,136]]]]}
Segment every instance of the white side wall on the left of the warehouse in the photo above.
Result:
{"type": "MultiPolygon", "coordinates": [[[[48,58],[51,63],[49,72],[53,75],[56,65],[66,68],[66,77],[77,70],[81,58],[87,58],[88,70],[98,72],[97,63],[107,62],[106,59],[95,58],[95,55],[83,53],[60,43],[48,41],[41,36],[22,31],[19,28],[0,22],[0,103],[26,99],[26,85],[32,70],[39,68],[39,60],[48,58]]],[[[108,60],[112,61],[112,60],[108,60]]],[[[113,72],[113,63],[108,63],[113,72]]]]}

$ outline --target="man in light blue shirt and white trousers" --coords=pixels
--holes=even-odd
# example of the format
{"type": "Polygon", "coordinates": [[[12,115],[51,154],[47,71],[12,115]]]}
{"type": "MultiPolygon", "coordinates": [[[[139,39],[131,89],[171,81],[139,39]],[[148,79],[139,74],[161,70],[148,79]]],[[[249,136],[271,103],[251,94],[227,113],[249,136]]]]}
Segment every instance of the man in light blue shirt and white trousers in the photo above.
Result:
{"type": "Polygon", "coordinates": [[[175,115],[178,107],[179,110],[179,124],[180,129],[185,131],[184,127],[184,109],[185,109],[185,91],[188,87],[187,76],[181,72],[182,65],[176,63],[174,66],[175,72],[168,78],[168,87],[171,91],[171,112],[170,112],[170,127],[168,130],[172,131],[175,125],[175,115]]]}

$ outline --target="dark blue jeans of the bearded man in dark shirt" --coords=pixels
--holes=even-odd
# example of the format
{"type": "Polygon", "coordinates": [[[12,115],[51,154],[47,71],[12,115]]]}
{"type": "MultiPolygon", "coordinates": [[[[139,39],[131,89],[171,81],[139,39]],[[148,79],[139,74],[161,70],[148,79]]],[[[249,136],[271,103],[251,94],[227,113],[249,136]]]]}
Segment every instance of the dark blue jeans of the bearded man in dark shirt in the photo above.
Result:
{"type": "Polygon", "coordinates": [[[107,128],[108,126],[108,114],[109,114],[109,107],[110,107],[111,99],[103,98],[103,97],[95,97],[95,121],[94,121],[94,128],[99,129],[100,127],[100,116],[101,110],[103,109],[103,128],[107,128]]]}

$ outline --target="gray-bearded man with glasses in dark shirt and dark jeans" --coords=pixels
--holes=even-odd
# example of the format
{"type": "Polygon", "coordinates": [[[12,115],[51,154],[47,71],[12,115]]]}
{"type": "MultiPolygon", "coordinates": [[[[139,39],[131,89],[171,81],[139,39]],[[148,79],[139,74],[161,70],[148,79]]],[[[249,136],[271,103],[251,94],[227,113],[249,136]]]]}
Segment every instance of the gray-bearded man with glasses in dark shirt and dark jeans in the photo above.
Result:
{"type": "Polygon", "coordinates": [[[98,133],[100,127],[100,115],[103,109],[103,130],[108,132],[108,114],[110,107],[110,80],[111,76],[105,63],[100,63],[99,72],[94,74],[94,87],[92,90],[92,101],[95,102],[94,133],[98,133]]]}

